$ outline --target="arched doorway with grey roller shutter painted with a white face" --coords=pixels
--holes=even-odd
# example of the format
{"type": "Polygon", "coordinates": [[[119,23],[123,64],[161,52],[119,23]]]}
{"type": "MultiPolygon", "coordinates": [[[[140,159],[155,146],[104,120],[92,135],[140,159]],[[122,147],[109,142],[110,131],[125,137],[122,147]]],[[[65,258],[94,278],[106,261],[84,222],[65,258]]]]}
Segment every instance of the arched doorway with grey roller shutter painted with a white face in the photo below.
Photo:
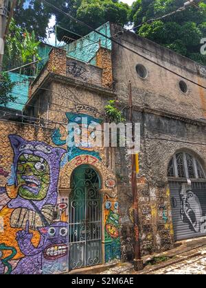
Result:
{"type": "Polygon", "coordinates": [[[206,235],[206,175],[200,161],[178,152],[168,166],[176,241],[206,235]]]}

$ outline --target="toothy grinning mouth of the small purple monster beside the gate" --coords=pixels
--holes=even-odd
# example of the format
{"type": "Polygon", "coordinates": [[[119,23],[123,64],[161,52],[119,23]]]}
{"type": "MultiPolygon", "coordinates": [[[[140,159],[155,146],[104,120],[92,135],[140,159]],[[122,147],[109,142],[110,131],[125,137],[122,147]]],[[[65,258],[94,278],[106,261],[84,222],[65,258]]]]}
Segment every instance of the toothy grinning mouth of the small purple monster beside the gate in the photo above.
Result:
{"type": "Polygon", "coordinates": [[[68,248],[64,244],[59,245],[50,245],[44,251],[45,259],[47,260],[56,260],[63,256],[66,256],[68,253],[68,248]]]}

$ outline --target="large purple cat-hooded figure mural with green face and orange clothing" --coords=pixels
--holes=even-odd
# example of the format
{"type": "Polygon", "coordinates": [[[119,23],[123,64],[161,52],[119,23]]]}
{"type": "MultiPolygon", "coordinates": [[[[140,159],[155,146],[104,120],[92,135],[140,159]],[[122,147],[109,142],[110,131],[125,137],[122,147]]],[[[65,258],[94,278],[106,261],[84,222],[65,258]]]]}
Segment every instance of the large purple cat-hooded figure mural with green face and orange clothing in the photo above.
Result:
{"type": "Polygon", "coordinates": [[[12,175],[5,189],[1,187],[1,195],[6,193],[10,200],[0,211],[0,274],[54,272],[52,260],[65,257],[67,243],[63,235],[67,224],[52,223],[60,161],[66,151],[18,135],[9,139],[14,157],[12,175]],[[52,239],[49,232],[58,227],[61,237],[55,234],[52,239]]]}

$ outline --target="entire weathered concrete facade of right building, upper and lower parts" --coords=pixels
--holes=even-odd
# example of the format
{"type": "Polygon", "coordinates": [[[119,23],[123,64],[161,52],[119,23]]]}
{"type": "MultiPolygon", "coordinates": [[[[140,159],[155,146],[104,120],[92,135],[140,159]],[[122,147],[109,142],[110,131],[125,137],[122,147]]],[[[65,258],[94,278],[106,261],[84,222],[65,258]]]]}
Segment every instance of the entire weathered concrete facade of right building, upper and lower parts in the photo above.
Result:
{"type": "MultiPolygon", "coordinates": [[[[111,34],[122,29],[111,26],[111,34]]],[[[184,80],[188,92],[183,93],[179,82],[187,77],[206,85],[205,67],[160,47],[131,32],[119,33],[115,40],[159,65],[179,73],[174,75],[158,65],[113,43],[113,81],[122,106],[128,103],[128,83],[132,84],[135,123],[141,123],[139,154],[139,221],[142,254],[168,250],[174,245],[168,165],[178,151],[196,156],[205,167],[205,89],[184,80]],[[148,77],[137,75],[136,65],[143,64],[148,77]],[[165,139],[165,140],[161,140],[165,139]],[[191,144],[190,144],[191,143],[191,144]]],[[[126,152],[116,155],[119,191],[122,259],[133,257],[133,197],[130,189],[130,158],[126,152]]]]}

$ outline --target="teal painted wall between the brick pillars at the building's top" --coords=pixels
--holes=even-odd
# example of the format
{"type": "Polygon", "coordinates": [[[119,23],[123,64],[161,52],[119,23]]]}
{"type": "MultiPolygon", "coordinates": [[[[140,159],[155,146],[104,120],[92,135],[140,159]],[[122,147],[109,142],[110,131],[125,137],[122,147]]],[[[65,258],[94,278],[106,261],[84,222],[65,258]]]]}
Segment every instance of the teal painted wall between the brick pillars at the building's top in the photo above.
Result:
{"type": "MultiPolygon", "coordinates": [[[[97,29],[102,34],[111,37],[110,23],[106,23],[97,29]]],[[[111,40],[91,32],[84,38],[67,45],[67,55],[83,62],[95,65],[95,54],[99,49],[99,41],[104,48],[111,49],[111,40]]]]}

